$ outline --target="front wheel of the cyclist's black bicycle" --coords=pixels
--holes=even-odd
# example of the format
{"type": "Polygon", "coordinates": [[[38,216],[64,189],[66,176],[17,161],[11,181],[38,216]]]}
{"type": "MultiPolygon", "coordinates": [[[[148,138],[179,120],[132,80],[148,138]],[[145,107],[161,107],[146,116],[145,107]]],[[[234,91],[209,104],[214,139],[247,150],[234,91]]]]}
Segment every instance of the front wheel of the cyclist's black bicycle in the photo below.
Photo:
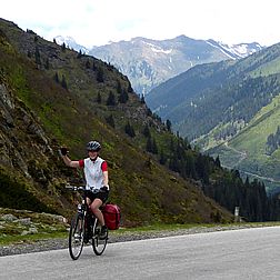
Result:
{"type": "Polygon", "coordinates": [[[76,213],[69,232],[69,253],[73,260],[78,260],[83,248],[84,219],[81,213],[76,213]]]}

